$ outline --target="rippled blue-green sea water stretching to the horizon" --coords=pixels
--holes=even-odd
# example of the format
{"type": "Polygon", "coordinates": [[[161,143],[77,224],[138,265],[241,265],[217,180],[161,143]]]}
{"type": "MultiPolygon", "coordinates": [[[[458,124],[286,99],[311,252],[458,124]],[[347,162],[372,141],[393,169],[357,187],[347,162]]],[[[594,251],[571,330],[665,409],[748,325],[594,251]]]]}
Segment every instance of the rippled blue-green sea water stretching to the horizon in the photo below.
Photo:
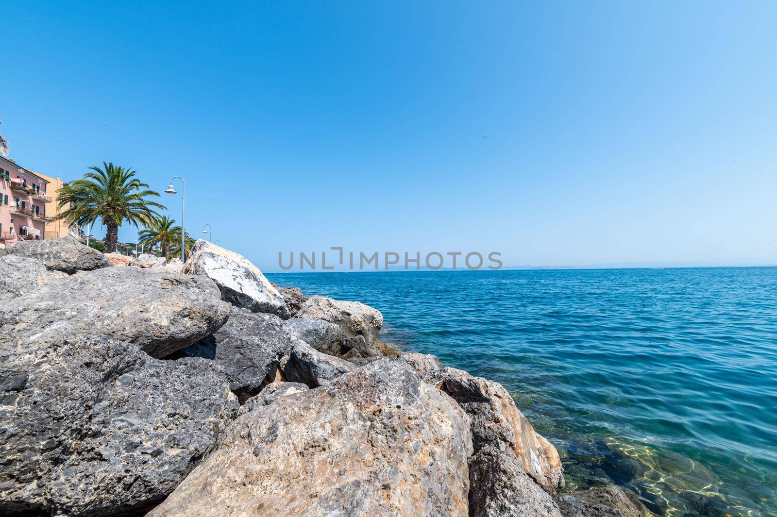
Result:
{"type": "Polygon", "coordinates": [[[657,515],[777,515],[777,269],[274,274],[503,383],[570,488],[657,515]]]}

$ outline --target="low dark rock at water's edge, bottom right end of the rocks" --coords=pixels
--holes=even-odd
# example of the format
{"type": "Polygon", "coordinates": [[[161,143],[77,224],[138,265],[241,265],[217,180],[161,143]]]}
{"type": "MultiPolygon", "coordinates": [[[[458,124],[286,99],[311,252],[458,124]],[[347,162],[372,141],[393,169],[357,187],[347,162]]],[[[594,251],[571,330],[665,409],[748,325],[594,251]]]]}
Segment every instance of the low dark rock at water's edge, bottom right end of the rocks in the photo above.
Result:
{"type": "Polygon", "coordinates": [[[615,486],[558,494],[563,517],[641,517],[643,512],[615,486]]]}

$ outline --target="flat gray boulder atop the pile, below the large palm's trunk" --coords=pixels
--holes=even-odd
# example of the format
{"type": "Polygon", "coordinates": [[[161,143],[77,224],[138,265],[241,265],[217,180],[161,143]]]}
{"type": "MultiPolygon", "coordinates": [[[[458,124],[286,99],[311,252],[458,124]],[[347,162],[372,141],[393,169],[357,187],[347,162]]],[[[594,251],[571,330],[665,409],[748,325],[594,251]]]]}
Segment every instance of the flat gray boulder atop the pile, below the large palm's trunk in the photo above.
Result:
{"type": "Polygon", "coordinates": [[[110,267],[105,255],[67,236],[43,241],[21,241],[8,248],[9,255],[30,257],[43,262],[47,269],[72,275],[75,272],[110,267]]]}

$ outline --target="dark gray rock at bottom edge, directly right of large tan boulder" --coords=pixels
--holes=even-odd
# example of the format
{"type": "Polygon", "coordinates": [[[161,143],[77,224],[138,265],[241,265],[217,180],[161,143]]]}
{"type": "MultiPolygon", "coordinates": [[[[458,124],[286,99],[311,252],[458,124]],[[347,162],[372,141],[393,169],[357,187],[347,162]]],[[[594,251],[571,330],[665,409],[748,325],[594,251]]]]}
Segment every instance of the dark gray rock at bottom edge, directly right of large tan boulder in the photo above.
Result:
{"type": "Polygon", "coordinates": [[[561,517],[550,494],[511,451],[487,443],[469,460],[471,517],[561,517]]]}

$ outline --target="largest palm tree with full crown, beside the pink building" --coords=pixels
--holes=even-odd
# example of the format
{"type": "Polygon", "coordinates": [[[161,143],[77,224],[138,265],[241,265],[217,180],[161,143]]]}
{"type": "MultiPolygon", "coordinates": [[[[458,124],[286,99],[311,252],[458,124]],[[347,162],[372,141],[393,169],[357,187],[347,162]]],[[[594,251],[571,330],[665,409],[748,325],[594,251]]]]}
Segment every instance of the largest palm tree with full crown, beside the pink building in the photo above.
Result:
{"type": "Polygon", "coordinates": [[[116,252],[119,227],[125,220],[135,227],[151,226],[159,213],[154,209],[165,206],[149,200],[159,193],[135,178],[131,168],[103,161],[103,168],[89,167],[82,179],[69,182],[57,191],[59,209],[67,207],[57,219],[67,224],[89,224],[98,219],[106,226],[105,249],[116,252]]]}

